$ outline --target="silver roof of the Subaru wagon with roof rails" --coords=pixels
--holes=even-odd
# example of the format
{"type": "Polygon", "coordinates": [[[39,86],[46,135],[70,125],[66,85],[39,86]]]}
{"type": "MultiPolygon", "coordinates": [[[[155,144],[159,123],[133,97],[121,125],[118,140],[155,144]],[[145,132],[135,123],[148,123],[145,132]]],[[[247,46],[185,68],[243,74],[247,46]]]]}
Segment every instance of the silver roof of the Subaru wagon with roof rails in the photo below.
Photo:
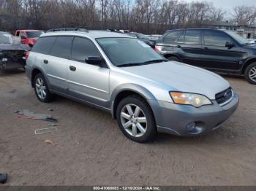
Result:
{"type": "Polygon", "coordinates": [[[47,32],[42,34],[40,37],[43,36],[84,36],[89,37],[91,39],[98,39],[98,38],[109,38],[109,37],[124,37],[124,38],[132,38],[127,34],[120,34],[110,31],[55,31],[55,32],[47,32]]]}

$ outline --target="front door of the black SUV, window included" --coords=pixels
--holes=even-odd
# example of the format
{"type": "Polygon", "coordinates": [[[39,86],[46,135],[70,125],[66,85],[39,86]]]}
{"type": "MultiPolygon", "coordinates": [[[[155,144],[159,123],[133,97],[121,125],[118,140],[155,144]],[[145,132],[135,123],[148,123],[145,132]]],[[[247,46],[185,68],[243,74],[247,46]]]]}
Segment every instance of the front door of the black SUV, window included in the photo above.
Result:
{"type": "Polygon", "coordinates": [[[241,47],[225,32],[203,30],[203,58],[200,64],[203,68],[238,70],[243,55],[241,47]],[[226,47],[226,42],[232,42],[233,47],[226,47]]]}

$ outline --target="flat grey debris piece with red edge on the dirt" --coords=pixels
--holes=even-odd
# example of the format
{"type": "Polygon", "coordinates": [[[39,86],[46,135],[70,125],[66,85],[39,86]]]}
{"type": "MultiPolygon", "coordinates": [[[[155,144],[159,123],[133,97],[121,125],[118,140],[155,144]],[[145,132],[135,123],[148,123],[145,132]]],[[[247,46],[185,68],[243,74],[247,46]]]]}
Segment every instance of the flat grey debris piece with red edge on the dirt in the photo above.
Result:
{"type": "Polygon", "coordinates": [[[18,113],[18,117],[23,119],[31,119],[31,120],[45,120],[49,122],[58,122],[55,118],[53,118],[50,114],[36,114],[34,112],[29,111],[28,109],[16,110],[15,113],[18,113]]]}

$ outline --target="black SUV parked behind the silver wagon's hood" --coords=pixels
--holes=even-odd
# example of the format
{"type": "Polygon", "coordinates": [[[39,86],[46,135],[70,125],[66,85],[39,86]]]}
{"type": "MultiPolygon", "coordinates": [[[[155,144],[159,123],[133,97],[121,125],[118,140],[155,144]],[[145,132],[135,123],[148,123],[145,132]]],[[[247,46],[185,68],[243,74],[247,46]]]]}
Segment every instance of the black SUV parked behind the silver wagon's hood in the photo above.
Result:
{"type": "Polygon", "coordinates": [[[256,45],[233,33],[210,28],[167,31],[155,50],[172,61],[225,73],[244,74],[256,85],[256,45]]]}

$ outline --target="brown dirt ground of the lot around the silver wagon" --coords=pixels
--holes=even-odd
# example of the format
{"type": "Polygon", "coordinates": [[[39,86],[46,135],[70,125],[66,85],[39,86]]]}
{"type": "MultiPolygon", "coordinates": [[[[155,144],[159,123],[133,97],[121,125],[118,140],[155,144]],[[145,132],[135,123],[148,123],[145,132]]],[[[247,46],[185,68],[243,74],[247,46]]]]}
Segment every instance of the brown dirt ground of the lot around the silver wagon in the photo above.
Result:
{"type": "Polygon", "coordinates": [[[61,97],[42,104],[23,72],[0,73],[0,173],[10,175],[7,185],[255,185],[256,86],[225,78],[241,102],[224,127],[138,144],[110,114],[61,97]],[[52,114],[58,130],[35,135],[50,122],[20,119],[15,109],[52,114]]]}

